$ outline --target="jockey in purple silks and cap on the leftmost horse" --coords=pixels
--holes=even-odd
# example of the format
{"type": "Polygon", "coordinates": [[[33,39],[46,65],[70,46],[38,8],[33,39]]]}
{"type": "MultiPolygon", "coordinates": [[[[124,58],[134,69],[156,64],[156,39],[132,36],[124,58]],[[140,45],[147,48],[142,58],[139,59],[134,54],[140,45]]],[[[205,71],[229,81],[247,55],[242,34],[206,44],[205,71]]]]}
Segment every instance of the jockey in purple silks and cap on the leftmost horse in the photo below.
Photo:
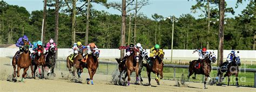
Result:
{"type": "Polygon", "coordinates": [[[19,55],[20,52],[23,52],[24,42],[25,42],[25,41],[28,41],[30,47],[32,47],[32,44],[30,43],[28,37],[27,37],[26,35],[23,35],[23,36],[20,37],[19,40],[16,42],[16,47],[19,47],[18,55],[19,55]]]}

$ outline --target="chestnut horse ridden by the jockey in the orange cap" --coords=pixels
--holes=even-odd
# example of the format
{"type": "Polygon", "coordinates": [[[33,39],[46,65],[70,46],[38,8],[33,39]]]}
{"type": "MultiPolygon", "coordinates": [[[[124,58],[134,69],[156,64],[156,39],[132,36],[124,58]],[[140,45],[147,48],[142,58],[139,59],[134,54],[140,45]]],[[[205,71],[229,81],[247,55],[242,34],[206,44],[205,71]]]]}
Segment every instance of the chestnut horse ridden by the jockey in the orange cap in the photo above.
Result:
{"type": "Polygon", "coordinates": [[[99,66],[98,57],[99,57],[99,52],[93,52],[92,54],[87,55],[86,63],[82,62],[80,64],[79,74],[83,72],[84,67],[88,69],[88,73],[90,75],[90,79],[89,78],[86,79],[88,85],[90,84],[89,83],[90,80],[91,80],[91,85],[93,85],[93,75],[96,73],[97,68],[99,66]]]}

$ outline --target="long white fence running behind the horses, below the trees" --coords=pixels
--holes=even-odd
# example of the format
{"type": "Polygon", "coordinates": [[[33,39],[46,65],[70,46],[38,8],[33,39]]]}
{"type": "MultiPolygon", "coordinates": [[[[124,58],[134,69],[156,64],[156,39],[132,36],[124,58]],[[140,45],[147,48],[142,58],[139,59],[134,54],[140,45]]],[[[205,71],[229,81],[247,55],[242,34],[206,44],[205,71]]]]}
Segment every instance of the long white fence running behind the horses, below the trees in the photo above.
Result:
{"type": "MultiPolygon", "coordinates": [[[[18,48],[0,48],[0,57],[8,57],[8,56],[14,56],[15,52],[18,51],[18,48]]],[[[218,50],[208,50],[211,52],[214,52],[215,55],[218,55],[218,50]]],[[[240,51],[239,56],[240,59],[248,60],[248,61],[256,61],[256,50],[238,50],[240,51]]],[[[149,52],[149,49],[147,49],[147,52],[149,52]]],[[[165,58],[170,59],[171,58],[171,50],[170,49],[164,49],[165,52],[165,58]]],[[[226,60],[226,57],[228,53],[230,53],[231,50],[224,50],[224,60],[226,60]]],[[[72,53],[72,49],[58,49],[58,57],[67,57],[72,53]]],[[[179,50],[174,49],[173,50],[173,59],[186,59],[186,60],[193,60],[198,59],[198,53],[193,53],[193,50],[179,50]]],[[[117,58],[120,57],[120,50],[118,49],[100,49],[100,58],[117,58]]],[[[218,57],[218,56],[217,56],[218,57]]]]}

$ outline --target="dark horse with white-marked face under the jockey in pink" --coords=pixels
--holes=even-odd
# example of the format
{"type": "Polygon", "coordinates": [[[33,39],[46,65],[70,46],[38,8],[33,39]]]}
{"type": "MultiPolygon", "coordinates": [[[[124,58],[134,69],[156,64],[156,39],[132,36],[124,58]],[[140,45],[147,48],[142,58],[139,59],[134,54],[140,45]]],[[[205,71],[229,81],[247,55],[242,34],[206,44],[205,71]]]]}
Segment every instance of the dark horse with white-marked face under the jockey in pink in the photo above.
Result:
{"type": "Polygon", "coordinates": [[[56,58],[55,58],[55,45],[51,44],[49,47],[49,51],[48,51],[48,55],[46,55],[46,66],[49,67],[49,69],[51,68],[51,70],[49,70],[48,74],[50,73],[53,74],[53,76],[56,76],[56,74],[54,73],[54,68],[55,68],[55,63],[56,63],[56,58]]]}

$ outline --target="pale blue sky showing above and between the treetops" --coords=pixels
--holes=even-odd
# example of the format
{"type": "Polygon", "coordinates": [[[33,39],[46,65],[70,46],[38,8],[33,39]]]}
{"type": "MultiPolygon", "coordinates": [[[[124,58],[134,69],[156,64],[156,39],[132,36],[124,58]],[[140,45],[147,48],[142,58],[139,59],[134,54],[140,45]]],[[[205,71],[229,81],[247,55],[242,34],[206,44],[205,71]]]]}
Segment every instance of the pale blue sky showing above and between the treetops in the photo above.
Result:
{"type": "MultiPolygon", "coordinates": [[[[4,0],[8,4],[11,5],[18,5],[25,7],[29,12],[35,11],[35,10],[43,10],[43,0],[4,0]]],[[[107,0],[107,2],[121,2],[121,0],[107,0]]],[[[140,1],[140,0],[138,0],[140,1]]],[[[191,6],[195,5],[197,2],[196,0],[149,0],[150,4],[147,6],[142,7],[142,9],[139,11],[140,13],[145,14],[147,17],[151,18],[151,15],[154,13],[158,13],[164,17],[169,16],[176,16],[179,17],[181,14],[187,14],[190,13],[192,16],[199,18],[198,15],[201,14],[201,12],[198,13],[191,13],[191,6]]],[[[237,0],[226,0],[227,7],[233,7],[235,11],[235,15],[241,14],[241,11],[245,9],[249,1],[246,0],[246,2],[239,5],[237,9],[235,9],[235,3],[237,0]]],[[[93,8],[96,10],[104,10],[112,14],[121,14],[120,11],[115,9],[106,9],[105,6],[100,4],[93,4],[93,8]]],[[[234,17],[232,14],[227,13],[227,17],[234,17]]]]}

